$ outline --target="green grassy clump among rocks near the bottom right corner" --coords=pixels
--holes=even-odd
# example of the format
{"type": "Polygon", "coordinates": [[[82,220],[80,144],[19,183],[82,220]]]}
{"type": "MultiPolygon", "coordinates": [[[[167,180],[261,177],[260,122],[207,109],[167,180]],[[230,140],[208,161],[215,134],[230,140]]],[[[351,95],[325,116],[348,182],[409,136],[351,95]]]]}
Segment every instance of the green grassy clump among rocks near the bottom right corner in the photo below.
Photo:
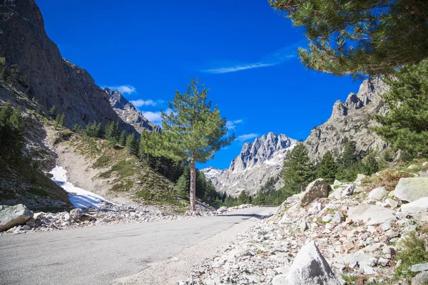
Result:
{"type": "Polygon", "coordinates": [[[408,237],[404,238],[398,244],[399,252],[396,259],[401,259],[397,269],[395,269],[394,277],[411,278],[415,275],[410,269],[412,265],[428,262],[428,251],[426,249],[427,241],[418,237],[416,232],[412,232],[408,237]]]}

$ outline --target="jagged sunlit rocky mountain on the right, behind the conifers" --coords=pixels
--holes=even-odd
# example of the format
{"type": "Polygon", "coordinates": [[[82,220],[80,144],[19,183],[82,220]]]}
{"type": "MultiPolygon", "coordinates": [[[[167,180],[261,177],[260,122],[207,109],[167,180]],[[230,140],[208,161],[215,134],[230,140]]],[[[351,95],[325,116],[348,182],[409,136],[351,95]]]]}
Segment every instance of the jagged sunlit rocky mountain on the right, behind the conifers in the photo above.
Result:
{"type": "Polygon", "coordinates": [[[357,151],[383,150],[387,146],[370,127],[377,123],[370,118],[373,114],[384,114],[387,105],[380,95],[386,93],[388,86],[379,78],[365,80],[358,93],[350,93],[347,100],[337,100],[331,117],[324,124],[313,128],[305,145],[312,160],[320,160],[330,150],[341,152],[344,138],[356,142],[357,151]]]}

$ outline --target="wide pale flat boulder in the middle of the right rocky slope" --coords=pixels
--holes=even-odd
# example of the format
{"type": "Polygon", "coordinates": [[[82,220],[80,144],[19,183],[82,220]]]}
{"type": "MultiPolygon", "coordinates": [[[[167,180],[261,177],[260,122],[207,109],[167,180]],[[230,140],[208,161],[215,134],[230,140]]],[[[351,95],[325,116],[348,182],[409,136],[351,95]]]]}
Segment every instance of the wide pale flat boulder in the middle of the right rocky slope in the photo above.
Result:
{"type": "Polygon", "coordinates": [[[388,219],[395,219],[395,211],[379,205],[360,204],[348,210],[347,215],[352,221],[362,221],[367,225],[382,224],[388,219]]]}

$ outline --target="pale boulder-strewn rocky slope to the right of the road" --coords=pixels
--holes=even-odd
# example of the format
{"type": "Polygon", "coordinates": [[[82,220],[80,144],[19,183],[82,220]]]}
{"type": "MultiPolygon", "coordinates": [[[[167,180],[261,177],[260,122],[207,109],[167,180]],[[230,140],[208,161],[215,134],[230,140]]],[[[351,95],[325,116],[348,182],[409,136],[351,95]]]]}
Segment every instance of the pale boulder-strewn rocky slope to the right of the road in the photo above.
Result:
{"type": "Polygon", "coordinates": [[[277,214],[260,217],[228,249],[194,266],[178,284],[392,285],[410,284],[413,275],[412,284],[427,284],[426,257],[418,265],[413,256],[400,259],[404,250],[418,255],[428,250],[423,242],[416,252],[412,248],[418,244],[414,239],[428,245],[428,162],[423,165],[414,165],[418,173],[384,170],[373,177],[359,175],[352,184],[335,182],[330,195],[323,191],[327,182],[312,183],[289,197],[277,214]],[[411,178],[395,180],[394,186],[392,173],[411,178]],[[378,180],[388,187],[372,183],[378,180]],[[406,197],[400,196],[404,192],[406,197]],[[411,247],[402,243],[407,239],[411,247]]]}

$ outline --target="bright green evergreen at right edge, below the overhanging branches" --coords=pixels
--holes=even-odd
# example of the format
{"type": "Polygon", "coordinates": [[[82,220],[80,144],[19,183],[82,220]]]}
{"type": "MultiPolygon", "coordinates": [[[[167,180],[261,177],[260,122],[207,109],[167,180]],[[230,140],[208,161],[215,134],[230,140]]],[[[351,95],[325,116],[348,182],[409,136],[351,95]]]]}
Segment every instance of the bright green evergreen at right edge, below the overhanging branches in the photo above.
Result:
{"type": "Polygon", "coordinates": [[[428,155],[428,60],[399,69],[387,83],[383,95],[389,107],[386,115],[374,115],[381,123],[373,130],[396,150],[409,157],[428,155]]]}

